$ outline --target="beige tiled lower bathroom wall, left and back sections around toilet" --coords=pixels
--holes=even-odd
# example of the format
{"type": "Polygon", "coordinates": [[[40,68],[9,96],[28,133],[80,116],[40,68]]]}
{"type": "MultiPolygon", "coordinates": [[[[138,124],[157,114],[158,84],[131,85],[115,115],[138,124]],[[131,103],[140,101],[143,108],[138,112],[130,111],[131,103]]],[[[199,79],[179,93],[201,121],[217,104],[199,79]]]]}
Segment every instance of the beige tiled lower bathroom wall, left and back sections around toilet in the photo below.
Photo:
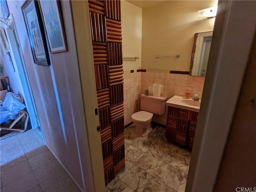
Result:
{"type": "MultiPolygon", "coordinates": [[[[173,74],[170,71],[147,69],[147,72],[124,71],[124,125],[132,122],[131,115],[139,110],[139,95],[145,93],[154,83],[164,85],[161,94],[170,99],[174,95],[185,96],[188,89],[190,97],[198,94],[202,98],[205,77],[173,74]]],[[[167,107],[163,115],[154,115],[153,121],[166,125],[167,107]]]]}

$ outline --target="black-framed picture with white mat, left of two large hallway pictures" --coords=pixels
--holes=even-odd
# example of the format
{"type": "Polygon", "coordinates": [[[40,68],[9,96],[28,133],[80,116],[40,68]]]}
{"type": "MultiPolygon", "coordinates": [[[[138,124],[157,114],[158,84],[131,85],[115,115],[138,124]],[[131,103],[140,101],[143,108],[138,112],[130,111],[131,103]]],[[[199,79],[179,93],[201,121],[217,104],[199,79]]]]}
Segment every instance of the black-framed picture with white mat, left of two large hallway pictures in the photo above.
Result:
{"type": "Polygon", "coordinates": [[[38,1],[26,0],[21,9],[34,63],[48,66],[50,65],[50,58],[39,3],[38,1]]]}

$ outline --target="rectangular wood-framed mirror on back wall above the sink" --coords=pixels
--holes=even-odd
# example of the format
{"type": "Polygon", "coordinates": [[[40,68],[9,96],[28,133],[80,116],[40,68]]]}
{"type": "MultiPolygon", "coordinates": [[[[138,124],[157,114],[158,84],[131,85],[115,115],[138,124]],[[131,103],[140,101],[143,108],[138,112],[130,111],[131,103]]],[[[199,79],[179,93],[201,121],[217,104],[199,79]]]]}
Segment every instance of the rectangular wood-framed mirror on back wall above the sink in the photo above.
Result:
{"type": "Polygon", "coordinates": [[[194,35],[189,75],[205,77],[211,43],[212,32],[194,35]]]}

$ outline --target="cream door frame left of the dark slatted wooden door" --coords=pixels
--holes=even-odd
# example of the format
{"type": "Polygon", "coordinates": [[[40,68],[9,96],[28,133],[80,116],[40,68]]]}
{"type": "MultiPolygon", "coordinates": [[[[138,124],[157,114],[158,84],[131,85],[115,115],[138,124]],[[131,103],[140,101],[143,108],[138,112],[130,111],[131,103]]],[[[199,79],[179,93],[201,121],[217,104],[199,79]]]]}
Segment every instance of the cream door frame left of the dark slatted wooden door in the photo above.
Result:
{"type": "Polygon", "coordinates": [[[86,119],[86,129],[83,131],[84,146],[86,149],[86,162],[84,162],[84,182],[86,191],[106,191],[104,168],[102,158],[102,146],[98,109],[96,84],[94,75],[94,60],[92,52],[92,38],[90,32],[88,1],[70,1],[73,25],[76,39],[76,51],[80,72],[82,98],[86,119]],[[87,153],[88,152],[88,153],[87,153]]]}

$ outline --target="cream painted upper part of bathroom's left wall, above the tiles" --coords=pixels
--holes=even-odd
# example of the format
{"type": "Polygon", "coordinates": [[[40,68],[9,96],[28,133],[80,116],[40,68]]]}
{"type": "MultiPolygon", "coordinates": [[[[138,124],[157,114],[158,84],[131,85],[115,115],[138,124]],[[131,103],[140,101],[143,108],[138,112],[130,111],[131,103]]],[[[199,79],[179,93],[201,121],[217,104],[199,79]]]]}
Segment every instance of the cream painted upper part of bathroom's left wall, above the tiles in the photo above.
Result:
{"type": "Polygon", "coordinates": [[[122,52],[123,57],[139,57],[124,60],[124,71],[141,69],[142,8],[127,1],[121,1],[122,52]]]}

